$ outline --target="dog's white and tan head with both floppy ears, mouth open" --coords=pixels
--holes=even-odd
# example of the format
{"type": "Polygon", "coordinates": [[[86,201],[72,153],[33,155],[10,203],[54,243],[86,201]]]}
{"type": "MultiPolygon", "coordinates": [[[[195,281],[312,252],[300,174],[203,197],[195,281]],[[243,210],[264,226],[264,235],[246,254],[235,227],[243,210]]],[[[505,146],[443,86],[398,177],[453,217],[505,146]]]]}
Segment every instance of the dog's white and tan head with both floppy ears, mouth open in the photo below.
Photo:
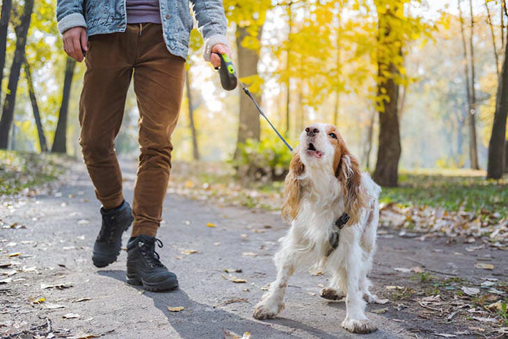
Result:
{"type": "Polygon", "coordinates": [[[334,125],[315,123],[301,133],[285,181],[284,219],[292,220],[298,214],[301,180],[317,179],[313,175],[333,175],[339,180],[344,206],[351,216],[349,224],[356,223],[360,207],[365,206],[360,165],[334,125]]]}

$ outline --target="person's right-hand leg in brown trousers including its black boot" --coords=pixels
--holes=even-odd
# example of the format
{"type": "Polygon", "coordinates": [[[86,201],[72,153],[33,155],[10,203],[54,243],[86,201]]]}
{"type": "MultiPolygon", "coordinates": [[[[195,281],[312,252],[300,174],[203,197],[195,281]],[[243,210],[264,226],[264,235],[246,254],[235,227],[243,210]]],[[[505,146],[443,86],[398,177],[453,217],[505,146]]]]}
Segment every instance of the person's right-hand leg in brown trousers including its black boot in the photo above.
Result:
{"type": "Polygon", "coordinates": [[[160,24],[139,27],[134,91],[139,108],[140,156],[134,201],[134,225],[127,244],[127,283],[145,290],[173,290],[177,277],[155,252],[162,203],[168,186],[171,133],[175,129],[184,87],[184,59],[168,52],[160,24]]]}

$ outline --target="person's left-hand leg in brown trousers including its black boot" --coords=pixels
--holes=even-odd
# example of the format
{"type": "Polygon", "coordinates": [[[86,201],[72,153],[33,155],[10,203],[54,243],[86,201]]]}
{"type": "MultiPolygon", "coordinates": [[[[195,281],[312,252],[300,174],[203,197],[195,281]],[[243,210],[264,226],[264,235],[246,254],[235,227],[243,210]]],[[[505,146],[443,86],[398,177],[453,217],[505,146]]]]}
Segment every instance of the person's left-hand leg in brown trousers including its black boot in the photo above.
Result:
{"type": "MultiPolygon", "coordinates": [[[[135,27],[134,27],[135,30],[135,27]]],[[[105,267],[118,258],[122,233],[132,223],[132,210],[122,195],[122,173],[114,139],[122,123],[132,77],[136,32],[90,37],[86,73],[79,102],[79,143],[95,195],[102,203],[102,226],[93,245],[93,264],[105,267]]]]}

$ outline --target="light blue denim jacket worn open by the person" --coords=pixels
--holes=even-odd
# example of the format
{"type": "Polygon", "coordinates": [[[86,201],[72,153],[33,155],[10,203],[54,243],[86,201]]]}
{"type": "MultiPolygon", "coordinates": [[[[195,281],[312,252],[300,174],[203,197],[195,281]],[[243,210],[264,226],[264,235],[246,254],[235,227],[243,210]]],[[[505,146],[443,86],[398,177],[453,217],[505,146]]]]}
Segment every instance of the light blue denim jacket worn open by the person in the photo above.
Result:
{"type": "MultiPolygon", "coordinates": [[[[225,38],[227,22],[221,0],[191,0],[198,26],[205,38],[205,60],[218,43],[228,45],[225,38]]],[[[164,42],[171,54],[187,57],[193,20],[189,0],[160,0],[164,42]]],[[[56,5],[58,31],[85,27],[88,36],[124,32],[127,26],[125,0],[58,0],[56,5]]]]}

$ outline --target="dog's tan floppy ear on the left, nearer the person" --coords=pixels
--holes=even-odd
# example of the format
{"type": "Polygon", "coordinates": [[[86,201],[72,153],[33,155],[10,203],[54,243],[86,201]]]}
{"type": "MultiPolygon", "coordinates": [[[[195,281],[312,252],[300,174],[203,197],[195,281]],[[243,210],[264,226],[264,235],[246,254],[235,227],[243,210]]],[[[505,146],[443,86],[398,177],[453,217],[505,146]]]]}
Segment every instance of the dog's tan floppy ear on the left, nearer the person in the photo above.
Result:
{"type": "Polygon", "coordinates": [[[294,150],[291,164],[289,164],[289,173],[286,175],[284,189],[284,203],[281,210],[285,221],[292,221],[298,214],[300,205],[300,181],[299,177],[305,172],[305,165],[301,162],[300,155],[294,150]]]}

